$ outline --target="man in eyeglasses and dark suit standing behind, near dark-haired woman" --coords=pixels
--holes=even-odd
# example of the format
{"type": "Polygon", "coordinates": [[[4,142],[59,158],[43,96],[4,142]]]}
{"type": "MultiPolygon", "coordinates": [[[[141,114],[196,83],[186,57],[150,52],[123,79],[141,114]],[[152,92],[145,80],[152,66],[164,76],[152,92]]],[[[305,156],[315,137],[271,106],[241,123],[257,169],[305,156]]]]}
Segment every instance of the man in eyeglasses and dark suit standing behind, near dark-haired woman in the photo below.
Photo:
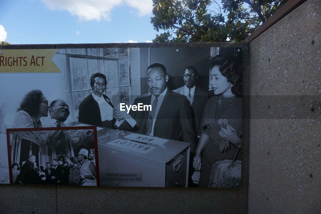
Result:
{"type": "Polygon", "coordinates": [[[178,89],[173,90],[178,94],[185,95],[190,102],[192,109],[192,124],[195,133],[195,141],[198,141],[200,135],[200,123],[202,118],[202,112],[204,111],[206,102],[208,100],[208,93],[195,86],[197,80],[197,70],[193,66],[189,66],[185,69],[183,75],[185,85],[178,89]]]}

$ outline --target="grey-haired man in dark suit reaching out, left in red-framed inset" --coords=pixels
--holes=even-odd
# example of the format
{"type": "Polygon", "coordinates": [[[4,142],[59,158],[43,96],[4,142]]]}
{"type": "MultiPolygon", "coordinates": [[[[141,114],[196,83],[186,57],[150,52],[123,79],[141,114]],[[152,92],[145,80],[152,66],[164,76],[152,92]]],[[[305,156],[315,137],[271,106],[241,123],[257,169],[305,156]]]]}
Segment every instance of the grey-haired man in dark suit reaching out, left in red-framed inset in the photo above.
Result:
{"type": "Polygon", "coordinates": [[[16,183],[21,184],[35,184],[37,176],[45,175],[44,172],[36,172],[35,165],[36,156],[30,155],[28,161],[22,166],[20,174],[16,180],[16,183]]]}

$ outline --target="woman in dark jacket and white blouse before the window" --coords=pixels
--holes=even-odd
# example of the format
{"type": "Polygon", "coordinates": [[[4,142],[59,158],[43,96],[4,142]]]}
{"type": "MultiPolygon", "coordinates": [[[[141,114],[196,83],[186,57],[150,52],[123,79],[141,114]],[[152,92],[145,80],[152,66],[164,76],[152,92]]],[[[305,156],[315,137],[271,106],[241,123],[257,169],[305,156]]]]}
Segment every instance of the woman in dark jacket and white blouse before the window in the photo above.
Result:
{"type": "Polygon", "coordinates": [[[114,106],[103,94],[107,85],[106,76],[99,72],[92,74],[90,85],[93,92],[80,103],[78,122],[115,129],[114,106]]]}

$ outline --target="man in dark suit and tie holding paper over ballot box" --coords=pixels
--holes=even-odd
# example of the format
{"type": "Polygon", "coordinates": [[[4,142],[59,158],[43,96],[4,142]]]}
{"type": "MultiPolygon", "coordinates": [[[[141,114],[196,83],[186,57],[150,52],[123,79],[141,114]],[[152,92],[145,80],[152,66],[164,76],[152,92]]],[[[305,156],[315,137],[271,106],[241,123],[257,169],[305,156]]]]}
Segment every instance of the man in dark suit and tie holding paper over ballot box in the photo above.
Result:
{"type": "Polygon", "coordinates": [[[138,96],[134,105],[152,105],[151,111],[130,111],[136,124],[124,120],[124,111],[114,110],[119,129],[137,133],[179,140],[191,144],[191,153],[195,152],[194,131],[191,120],[191,108],[185,96],[167,89],[168,75],[162,64],[154,63],[147,68],[147,83],[151,94],[138,96]]]}

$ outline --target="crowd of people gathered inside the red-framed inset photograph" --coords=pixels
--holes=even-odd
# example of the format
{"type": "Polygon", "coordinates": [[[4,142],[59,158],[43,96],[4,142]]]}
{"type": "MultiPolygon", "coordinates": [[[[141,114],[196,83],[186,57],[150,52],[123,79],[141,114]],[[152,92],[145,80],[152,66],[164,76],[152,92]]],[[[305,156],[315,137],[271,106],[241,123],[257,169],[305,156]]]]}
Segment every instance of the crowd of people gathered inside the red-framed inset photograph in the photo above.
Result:
{"type": "Polygon", "coordinates": [[[52,185],[96,185],[96,167],[94,160],[88,158],[88,150],[80,149],[77,157],[60,156],[64,162],[53,159],[45,166],[37,167],[36,156],[30,155],[27,161],[12,163],[13,183],[52,184],[52,185]]]}

